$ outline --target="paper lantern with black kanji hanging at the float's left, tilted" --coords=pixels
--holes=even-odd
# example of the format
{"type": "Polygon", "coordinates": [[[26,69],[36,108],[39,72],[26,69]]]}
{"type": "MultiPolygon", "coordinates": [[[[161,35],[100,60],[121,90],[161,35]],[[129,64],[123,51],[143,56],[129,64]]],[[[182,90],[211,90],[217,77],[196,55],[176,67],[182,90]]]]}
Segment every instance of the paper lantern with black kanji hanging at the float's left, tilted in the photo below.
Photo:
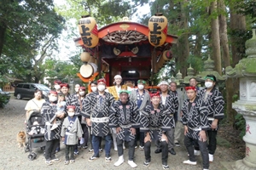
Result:
{"type": "Polygon", "coordinates": [[[82,16],[79,20],[79,33],[84,46],[94,48],[99,42],[96,20],[90,15],[82,16]]]}

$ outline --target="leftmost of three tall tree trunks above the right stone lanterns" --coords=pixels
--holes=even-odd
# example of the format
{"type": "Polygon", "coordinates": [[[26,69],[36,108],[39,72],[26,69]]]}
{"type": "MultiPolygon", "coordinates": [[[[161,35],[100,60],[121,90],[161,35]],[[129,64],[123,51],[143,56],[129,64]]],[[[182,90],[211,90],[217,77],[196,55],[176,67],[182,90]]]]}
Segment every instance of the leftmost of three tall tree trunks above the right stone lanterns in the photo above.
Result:
{"type": "MultiPolygon", "coordinates": [[[[211,3],[211,14],[215,13],[217,10],[217,1],[211,3]]],[[[211,29],[212,29],[212,57],[215,64],[215,71],[222,74],[221,67],[221,55],[220,55],[220,44],[219,44],[219,28],[218,28],[218,18],[212,18],[211,20],[211,29]]]]}

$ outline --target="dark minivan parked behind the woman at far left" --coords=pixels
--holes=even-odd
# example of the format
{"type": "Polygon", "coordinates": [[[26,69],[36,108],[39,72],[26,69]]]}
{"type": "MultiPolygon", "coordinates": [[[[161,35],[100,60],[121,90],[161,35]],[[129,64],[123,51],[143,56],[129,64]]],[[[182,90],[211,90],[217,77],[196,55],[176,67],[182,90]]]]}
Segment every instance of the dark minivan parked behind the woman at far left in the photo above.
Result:
{"type": "Polygon", "coordinates": [[[30,83],[30,82],[19,83],[15,87],[14,95],[17,99],[22,99],[22,98],[32,99],[34,98],[34,93],[37,89],[41,90],[43,92],[42,97],[44,99],[47,99],[50,89],[44,84],[30,83]]]}

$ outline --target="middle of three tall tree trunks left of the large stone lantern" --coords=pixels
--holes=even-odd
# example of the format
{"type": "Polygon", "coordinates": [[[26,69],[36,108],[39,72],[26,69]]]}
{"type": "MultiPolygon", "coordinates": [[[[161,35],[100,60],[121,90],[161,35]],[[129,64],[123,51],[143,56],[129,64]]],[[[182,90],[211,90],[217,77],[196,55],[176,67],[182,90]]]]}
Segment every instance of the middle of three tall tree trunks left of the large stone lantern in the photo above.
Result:
{"type": "MultiPolygon", "coordinates": [[[[225,5],[223,0],[218,1],[218,8],[221,11],[225,11],[225,5]]],[[[230,47],[228,43],[228,34],[227,34],[227,20],[225,15],[220,14],[218,17],[219,20],[219,35],[220,35],[220,45],[222,48],[222,54],[224,59],[224,68],[230,66],[230,47]]],[[[225,82],[226,85],[226,101],[227,109],[226,116],[228,122],[233,124],[235,122],[234,110],[232,109],[232,97],[233,97],[233,81],[232,78],[228,78],[225,82]]]]}

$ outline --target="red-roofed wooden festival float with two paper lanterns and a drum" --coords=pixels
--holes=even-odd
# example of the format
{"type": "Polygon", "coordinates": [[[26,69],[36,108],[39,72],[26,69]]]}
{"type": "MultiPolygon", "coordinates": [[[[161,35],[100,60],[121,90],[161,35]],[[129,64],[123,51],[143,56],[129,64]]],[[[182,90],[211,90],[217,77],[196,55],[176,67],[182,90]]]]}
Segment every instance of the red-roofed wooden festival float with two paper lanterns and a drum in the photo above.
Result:
{"type": "MultiPolygon", "coordinates": [[[[80,57],[84,65],[77,75],[83,82],[90,82],[104,73],[107,86],[113,85],[115,75],[121,75],[123,82],[130,84],[138,79],[148,81],[172,59],[172,45],[177,36],[167,34],[167,23],[166,17],[158,13],[148,20],[148,26],[125,17],[97,29],[93,17],[82,16],[81,37],[74,42],[83,48],[80,57]]],[[[148,84],[154,86],[153,82],[148,84]]]]}

